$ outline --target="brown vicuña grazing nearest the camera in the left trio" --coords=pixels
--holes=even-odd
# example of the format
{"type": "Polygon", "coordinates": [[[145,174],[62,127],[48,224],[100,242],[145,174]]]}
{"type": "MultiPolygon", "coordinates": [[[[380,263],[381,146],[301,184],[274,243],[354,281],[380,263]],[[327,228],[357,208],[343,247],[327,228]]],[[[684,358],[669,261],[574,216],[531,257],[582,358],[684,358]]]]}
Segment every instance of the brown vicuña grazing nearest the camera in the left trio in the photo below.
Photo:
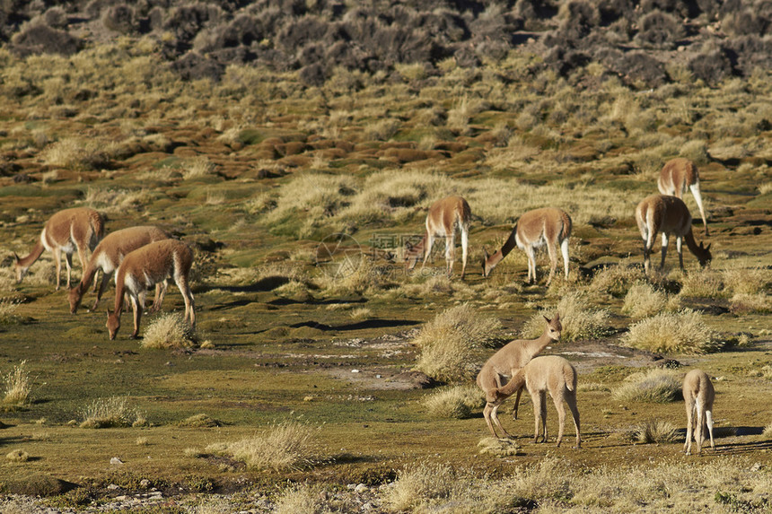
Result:
{"type": "Polygon", "coordinates": [[[193,265],[193,251],[180,240],[161,240],[137,248],[118,266],[115,277],[115,310],[107,309],[107,328],[110,340],[115,339],[120,328],[120,313],[123,310],[124,294],[134,310],[134,332],[131,338],[139,334],[139,320],[145,308],[147,288],[162,283],[161,298],[166,293],[166,279],[171,277],[180,288],[185,301],[185,320],[192,327],[196,326],[193,294],[190,292],[189,274],[193,265]]]}

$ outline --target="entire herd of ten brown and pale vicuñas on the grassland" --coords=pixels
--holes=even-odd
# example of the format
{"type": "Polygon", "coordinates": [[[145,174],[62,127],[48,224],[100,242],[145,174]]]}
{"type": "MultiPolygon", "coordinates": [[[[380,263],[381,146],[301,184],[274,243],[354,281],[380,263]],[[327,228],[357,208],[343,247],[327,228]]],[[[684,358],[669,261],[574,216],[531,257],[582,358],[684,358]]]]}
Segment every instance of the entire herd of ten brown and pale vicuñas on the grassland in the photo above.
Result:
{"type": "MultiPolygon", "coordinates": [[[[697,167],[687,159],[673,159],[662,168],[657,181],[660,195],[644,198],[636,207],[636,222],[644,240],[645,273],[651,271],[651,253],[654,241],[662,232],[662,260],[664,266],[670,236],[676,238],[680,268],[683,270],[682,243],[697,257],[701,266],[706,266],[712,256],[710,245],[697,244],[692,233],[692,217],[689,208],[681,200],[687,187],[697,202],[705,235],[708,235],[705,209],[700,194],[697,167]]],[[[461,233],[462,266],[461,279],[466,275],[469,255],[469,226],[471,223],[469,203],[461,196],[447,196],[429,207],[426,215],[426,231],[422,240],[415,245],[408,243],[405,248],[407,271],[413,270],[418,260],[422,268],[431,256],[436,238],[445,239],[446,273],[452,274],[455,253],[455,233],[461,233]]],[[[557,248],[563,257],[563,268],[568,278],[568,242],[572,231],[571,216],[556,207],[542,207],[522,213],[515,223],[512,233],[505,240],[502,248],[493,255],[488,255],[484,248],[482,274],[487,277],[513,248],[521,248],[528,257],[528,282],[535,283],[536,249],[547,247],[550,271],[547,285],[552,282],[557,270],[557,248]]],[[[182,293],[185,302],[185,320],[195,327],[196,313],[193,294],[190,292],[189,274],[193,265],[193,252],[189,246],[173,239],[167,231],[154,226],[136,226],[111,232],[104,236],[104,218],[100,213],[87,207],[65,209],[53,214],[40,232],[38,243],[27,257],[15,254],[16,282],[21,283],[30,266],[42,255],[44,250],[54,254],[57,267],[57,290],[61,275],[61,254],[65,254],[67,266],[67,288],[70,288],[72,255],[78,253],[83,275],[81,281],[72,287],[67,295],[70,312],[75,314],[83,300],[83,294],[94,282],[96,299],[91,310],[95,310],[110,277],[115,275],[115,306],[107,309],[107,328],[110,339],[115,339],[120,327],[121,312],[124,303],[128,303],[134,314],[134,330],[130,337],[139,334],[139,324],[145,309],[145,296],[148,288],[155,287],[155,299],[151,311],[161,309],[168,279],[182,293]],[[91,258],[86,258],[86,249],[92,251],[91,258]],[[97,276],[101,272],[101,281],[97,276]]],[[[547,326],[540,337],[533,340],[512,341],[494,353],[479,371],[478,387],[486,397],[483,411],[487,427],[494,437],[498,437],[496,427],[509,437],[497,416],[497,410],[504,400],[516,394],[513,414],[517,418],[517,406],[522,389],[526,388],[533,402],[534,441],[539,440],[540,425],[543,441],[547,440],[546,395],[552,397],[557,408],[559,431],[557,445],[563,440],[565,424],[564,402],[568,405],[576,429],[576,447],[580,447],[579,411],[576,406],[576,371],[574,366],[562,357],[548,355],[537,357],[549,344],[559,341],[562,325],[558,313],[551,319],[545,318],[547,326]]],[[[687,440],[684,451],[691,452],[692,439],[697,441],[697,452],[702,449],[704,428],[713,442],[713,402],[715,391],[713,384],[702,370],[691,370],[683,382],[683,396],[687,409],[687,440]]]]}

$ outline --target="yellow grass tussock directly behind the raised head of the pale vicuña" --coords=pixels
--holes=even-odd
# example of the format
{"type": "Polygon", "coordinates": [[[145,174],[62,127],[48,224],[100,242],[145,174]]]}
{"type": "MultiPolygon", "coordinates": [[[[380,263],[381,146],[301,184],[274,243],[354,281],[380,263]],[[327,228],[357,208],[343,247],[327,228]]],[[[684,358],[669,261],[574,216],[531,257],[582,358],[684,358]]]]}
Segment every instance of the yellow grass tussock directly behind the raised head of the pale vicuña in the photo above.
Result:
{"type": "Polygon", "coordinates": [[[577,341],[579,339],[593,339],[601,337],[609,331],[609,311],[605,309],[591,309],[587,306],[589,301],[585,292],[569,292],[554,309],[540,310],[531,316],[522,327],[521,335],[534,339],[544,332],[544,318],[552,318],[555,312],[560,313],[560,323],[563,332],[561,341],[577,341]]]}

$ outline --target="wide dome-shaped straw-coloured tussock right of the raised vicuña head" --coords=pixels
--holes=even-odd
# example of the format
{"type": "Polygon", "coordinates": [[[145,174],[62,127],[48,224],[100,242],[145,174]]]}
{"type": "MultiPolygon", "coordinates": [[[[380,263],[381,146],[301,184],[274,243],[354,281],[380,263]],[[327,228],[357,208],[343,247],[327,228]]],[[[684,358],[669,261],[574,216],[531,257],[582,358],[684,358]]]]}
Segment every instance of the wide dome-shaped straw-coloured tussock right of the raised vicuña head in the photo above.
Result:
{"type": "Polygon", "coordinates": [[[710,353],[722,346],[718,335],[691,309],[662,312],[639,321],[620,342],[655,353],[710,353]]]}

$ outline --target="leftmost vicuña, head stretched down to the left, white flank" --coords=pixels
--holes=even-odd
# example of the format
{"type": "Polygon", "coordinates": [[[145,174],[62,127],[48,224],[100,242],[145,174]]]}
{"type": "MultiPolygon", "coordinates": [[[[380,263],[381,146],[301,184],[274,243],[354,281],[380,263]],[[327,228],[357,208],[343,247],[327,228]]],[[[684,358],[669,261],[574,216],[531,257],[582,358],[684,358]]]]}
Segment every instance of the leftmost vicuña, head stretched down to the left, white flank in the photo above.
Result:
{"type": "Polygon", "coordinates": [[[40,239],[32,248],[30,255],[20,258],[15,253],[16,283],[22,283],[24,275],[32,263],[43,255],[43,250],[54,254],[57,264],[57,291],[62,273],[62,252],[65,252],[67,265],[67,287],[70,287],[70,274],[73,267],[73,252],[77,249],[81,266],[86,266],[86,248],[92,250],[104,234],[104,218],[100,213],[88,207],[75,207],[55,213],[40,232],[40,239]]]}

